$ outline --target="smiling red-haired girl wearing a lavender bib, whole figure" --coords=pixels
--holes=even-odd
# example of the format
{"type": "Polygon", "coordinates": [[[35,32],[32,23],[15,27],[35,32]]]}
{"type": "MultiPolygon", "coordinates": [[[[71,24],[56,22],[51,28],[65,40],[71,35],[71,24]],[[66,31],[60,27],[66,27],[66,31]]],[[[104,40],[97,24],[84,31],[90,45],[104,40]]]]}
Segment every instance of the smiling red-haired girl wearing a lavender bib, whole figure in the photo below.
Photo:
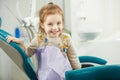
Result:
{"type": "Polygon", "coordinates": [[[38,80],[65,80],[67,70],[79,69],[81,65],[69,34],[63,32],[63,11],[58,5],[48,3],[41,8],[39,17],[39,34],[27,49],[19,39],[8,36],[7,41],[19,43],[28,56],[36,54],[38,80]]]}

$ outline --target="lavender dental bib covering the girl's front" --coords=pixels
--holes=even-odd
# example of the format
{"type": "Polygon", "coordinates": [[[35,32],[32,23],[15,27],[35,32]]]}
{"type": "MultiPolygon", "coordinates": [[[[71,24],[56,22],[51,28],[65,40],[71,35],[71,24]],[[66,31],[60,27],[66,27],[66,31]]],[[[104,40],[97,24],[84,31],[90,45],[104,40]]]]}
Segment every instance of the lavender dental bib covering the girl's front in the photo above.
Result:
{"type": "Polygon", "coordinates": [[[36,50],[38,80],[65,80],[65,72],[72,68],[63,53],[56,46],[39,47],[36,50]]]}

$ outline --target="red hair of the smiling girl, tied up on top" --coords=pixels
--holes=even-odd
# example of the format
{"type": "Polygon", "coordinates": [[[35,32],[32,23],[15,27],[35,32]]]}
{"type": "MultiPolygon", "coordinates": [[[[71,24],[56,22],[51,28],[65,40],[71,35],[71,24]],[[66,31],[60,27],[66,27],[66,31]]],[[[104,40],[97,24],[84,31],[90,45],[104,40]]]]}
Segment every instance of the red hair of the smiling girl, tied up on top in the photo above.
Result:
{"type": "Polygon", "coordinates": [[[39,23],[39,32],[43,33],[44,29],[41,28],[41,25],[44,23],[46,17],[51,14],[60,14],[62,15],[62,20],[64,23],[64,15],[62,9],[56,5],[53,4],[52,2],[48,3],[47,5],[43,6],[40,11],[39,11],[39,18],[40,18],[40,23],[39,23]]]}

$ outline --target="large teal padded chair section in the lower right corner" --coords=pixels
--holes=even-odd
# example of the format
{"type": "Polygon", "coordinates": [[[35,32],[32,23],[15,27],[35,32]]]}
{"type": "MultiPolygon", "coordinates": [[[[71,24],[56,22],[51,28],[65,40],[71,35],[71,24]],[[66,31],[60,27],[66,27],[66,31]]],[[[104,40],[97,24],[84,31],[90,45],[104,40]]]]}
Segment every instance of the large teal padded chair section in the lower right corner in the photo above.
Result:
{"type": "Polygon", "coordinates": [[[65,76],[66,80],[120,80],[120,64],[71,70],[65,76]]]}

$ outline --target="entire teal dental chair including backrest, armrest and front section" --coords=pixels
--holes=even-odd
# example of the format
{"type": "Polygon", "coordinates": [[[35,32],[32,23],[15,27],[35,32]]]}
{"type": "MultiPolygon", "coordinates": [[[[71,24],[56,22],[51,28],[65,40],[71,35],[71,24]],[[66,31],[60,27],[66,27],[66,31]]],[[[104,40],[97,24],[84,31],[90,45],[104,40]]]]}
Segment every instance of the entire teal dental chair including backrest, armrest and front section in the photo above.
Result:
{"type": "MultiPolygon", "coordinates": [[[[12,59],[12,61],[23,72],[25,72],[30,80],[37,80],[36,71],[32,61],[21,49],[19,44],[15,42],[6,42],[6,36],[8,35],[11,34],[0,29],[0,48],[2,48],[5,53],[12,59]]],[[[120,77],[118,76],[120,75],[120,66],[118,65],[105,65],[107,63],[106,60],[94,56],[80,56],[79,60],[81,63],[87,62],[87,64],[82,64],[82,69],[66,71],[66,80],[106,80],[102,77],[108,77],[109,74],[110,78],[114,78],[109,80],[117,80],[118,78],[120,80],[120,77]],[[100,66],[94,66],[93,63],[99,64],[100,66]],[[113,73],[114,77],[112,77],[112,72],[115,73],[113,73]],[[100,79],[98,78],[99,75],[100,79]]]]}

